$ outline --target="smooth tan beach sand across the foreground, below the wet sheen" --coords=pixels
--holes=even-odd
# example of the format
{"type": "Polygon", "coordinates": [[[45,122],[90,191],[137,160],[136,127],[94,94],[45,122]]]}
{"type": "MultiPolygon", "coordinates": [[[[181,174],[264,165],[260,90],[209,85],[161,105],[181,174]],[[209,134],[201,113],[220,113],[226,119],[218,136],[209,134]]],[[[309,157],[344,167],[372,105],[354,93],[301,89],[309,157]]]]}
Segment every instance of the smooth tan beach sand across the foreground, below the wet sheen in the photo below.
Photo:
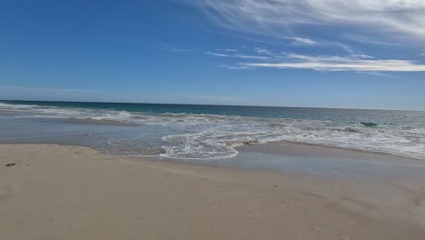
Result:
{"type": "Polygon", "coordinates": [[[0,239],[423,240],[424,188],[0,145],[0,239]],[[15,165],[6,166],[15,163],[15,165]]]}

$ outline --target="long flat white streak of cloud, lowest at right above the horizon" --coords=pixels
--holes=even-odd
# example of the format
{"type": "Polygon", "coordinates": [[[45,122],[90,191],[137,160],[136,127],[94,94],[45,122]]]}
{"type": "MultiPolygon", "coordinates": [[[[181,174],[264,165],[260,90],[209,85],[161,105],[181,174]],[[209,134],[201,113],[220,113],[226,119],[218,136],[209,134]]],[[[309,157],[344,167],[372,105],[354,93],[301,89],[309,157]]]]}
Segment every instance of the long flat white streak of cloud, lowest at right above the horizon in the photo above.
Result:
{"type": "MultiPolygon", "coordinates": [[[[366,55],[365,55],[366,56],[366,55]]],[[[425,65],[412,60],[374,59],[370,56],[330,56],[290,54],[280,62],[240,63],[238,66],[251,68],[294,68],[316,71],[353,71],[353,72],[425,72],[425,65]]]]}

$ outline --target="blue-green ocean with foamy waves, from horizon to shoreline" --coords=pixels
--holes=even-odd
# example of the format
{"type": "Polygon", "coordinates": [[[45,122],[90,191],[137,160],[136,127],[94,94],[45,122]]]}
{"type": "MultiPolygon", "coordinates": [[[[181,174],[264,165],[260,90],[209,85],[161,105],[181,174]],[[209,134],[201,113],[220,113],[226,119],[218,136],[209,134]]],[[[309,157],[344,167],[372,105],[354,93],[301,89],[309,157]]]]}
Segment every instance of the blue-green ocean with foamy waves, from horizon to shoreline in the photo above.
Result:
{"type": "Polygon", "coordinates": [[[289,141],[425,160],[425,112],[232,105],[0,101],[0,143],[92,147],[109,155],[231,158],[289,141]]]}

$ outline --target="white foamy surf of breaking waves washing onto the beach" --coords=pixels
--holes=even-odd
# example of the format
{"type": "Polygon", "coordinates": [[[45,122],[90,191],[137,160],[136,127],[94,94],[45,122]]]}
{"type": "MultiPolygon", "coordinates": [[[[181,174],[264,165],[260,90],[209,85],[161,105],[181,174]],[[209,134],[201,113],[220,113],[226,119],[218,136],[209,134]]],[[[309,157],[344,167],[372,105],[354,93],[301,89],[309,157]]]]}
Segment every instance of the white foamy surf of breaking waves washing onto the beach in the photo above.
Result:
{"type": "Polygon", "coordinates": [[[35,117],[113,120],[137,125],[173,127],[176,135],[162,138],[161,156],[182,159],[226,158],[234,147],[274,141],[330,145],[425,159],[425,126],[344,124],[332,121],[262,118],[238,115],[161,115],[88,108],[0,104],[0,110],[35,117]]]}

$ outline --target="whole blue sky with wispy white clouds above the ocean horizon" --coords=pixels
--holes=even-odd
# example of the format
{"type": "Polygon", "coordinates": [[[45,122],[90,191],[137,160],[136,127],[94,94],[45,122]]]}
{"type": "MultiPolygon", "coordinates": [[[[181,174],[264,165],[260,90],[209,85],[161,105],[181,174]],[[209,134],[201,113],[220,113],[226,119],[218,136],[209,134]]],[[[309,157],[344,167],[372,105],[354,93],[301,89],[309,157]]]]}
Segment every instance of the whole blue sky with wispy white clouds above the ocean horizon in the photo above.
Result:
{"type": "Polygon", "coordinates": [[[422,0],[0,1],[0,99],[425,110],[422,0]]]}

